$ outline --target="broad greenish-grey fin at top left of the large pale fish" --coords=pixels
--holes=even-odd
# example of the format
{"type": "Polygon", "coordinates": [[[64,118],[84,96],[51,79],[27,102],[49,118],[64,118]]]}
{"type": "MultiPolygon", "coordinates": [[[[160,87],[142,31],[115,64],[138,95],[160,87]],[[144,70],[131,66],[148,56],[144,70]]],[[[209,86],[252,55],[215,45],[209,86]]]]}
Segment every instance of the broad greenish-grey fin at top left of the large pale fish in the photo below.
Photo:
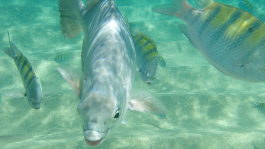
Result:
{"type": "Polygon", "coordinates": [[[59,0],[60,27],[64,38],[71,39],[83,31],[85,5],[81,0],[59,0]]]}

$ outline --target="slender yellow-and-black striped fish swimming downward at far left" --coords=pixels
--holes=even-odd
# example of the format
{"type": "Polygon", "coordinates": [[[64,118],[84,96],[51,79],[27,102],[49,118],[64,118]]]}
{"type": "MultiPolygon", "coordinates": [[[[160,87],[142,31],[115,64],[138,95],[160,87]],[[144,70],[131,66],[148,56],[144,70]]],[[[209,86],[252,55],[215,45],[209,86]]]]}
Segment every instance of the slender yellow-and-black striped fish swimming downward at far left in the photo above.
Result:
{"type": "Polygon", "coordinates": [[[27,101],[33,109],[37,110],[41,107],[42,102],[42,87],[39,76],[29,60],[10,41],[8,31],[7,35],[10,47],[4,47],[3,51],[14,60],[23,81],[27,101]]]}

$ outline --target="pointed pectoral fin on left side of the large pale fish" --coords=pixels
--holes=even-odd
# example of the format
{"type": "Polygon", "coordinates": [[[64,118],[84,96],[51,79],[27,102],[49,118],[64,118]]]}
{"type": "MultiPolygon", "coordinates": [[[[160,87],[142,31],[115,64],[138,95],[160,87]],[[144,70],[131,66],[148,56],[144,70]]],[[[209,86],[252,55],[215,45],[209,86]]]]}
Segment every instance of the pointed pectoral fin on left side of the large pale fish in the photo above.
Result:
{"type": "Polygon", "coordinates": [[[82,95],[82,83],[83,83],[83,74],[79,71],[75,71],[69,68],[57,68],[63,78],[68,82],[70,87],[76,93],[79,99],[82,95]]]}

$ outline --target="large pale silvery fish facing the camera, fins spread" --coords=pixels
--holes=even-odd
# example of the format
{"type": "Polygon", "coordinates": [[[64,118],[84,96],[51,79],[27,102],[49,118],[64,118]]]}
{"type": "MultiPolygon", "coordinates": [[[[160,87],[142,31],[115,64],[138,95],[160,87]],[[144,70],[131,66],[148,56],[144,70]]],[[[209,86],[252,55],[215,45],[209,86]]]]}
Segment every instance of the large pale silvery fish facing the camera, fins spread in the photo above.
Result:
{"type": "Polygon", "coordinates": [[[132,93],[136,56],[132,37],[113,0],[59,0],[65,38],[84,31],[82,73],[58,68],[80,98],[77,106],[85,141],[104,142],[126,123],[127,109],[164,114],[166,108],[147,92],[132,93]]]}

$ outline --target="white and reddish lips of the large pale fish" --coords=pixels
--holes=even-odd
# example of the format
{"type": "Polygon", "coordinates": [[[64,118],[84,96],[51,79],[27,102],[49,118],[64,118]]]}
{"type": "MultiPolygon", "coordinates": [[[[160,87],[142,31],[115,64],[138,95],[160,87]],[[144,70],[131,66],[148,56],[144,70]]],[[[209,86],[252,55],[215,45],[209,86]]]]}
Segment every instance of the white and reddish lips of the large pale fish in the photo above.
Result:
{"type": "Polygon", "coordinates": [[[106,136],[104,132],[98,132],[95,130],[84,130],[83,132],[85,141],[90,146],[97,146],[99,145],[103,138],[106,136]]]}

